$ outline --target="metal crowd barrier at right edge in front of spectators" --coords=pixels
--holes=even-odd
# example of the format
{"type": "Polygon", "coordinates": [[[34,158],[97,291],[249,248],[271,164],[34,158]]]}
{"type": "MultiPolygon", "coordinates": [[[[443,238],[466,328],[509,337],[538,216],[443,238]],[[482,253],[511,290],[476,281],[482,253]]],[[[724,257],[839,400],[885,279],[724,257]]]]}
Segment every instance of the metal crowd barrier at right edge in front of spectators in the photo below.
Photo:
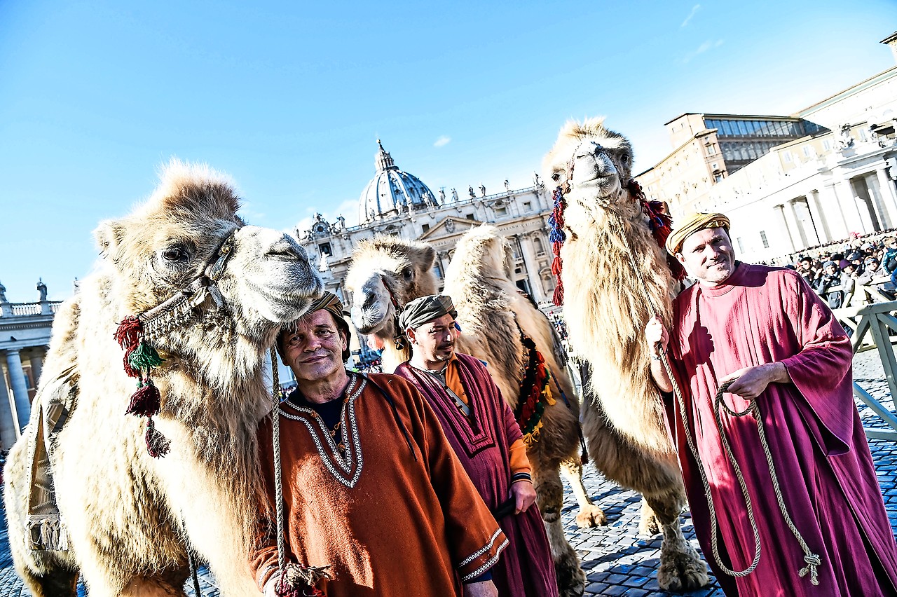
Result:
{"type": "MultiPolygon", "coordinates": [[[[885,299],[875,288],[858,286],[857,294],[867,293],[872,299],[885,299]]],[[[862,307],[846,307],[834,309],[834,314],[850,330],[850,344],[854,354],[864,350],[878,349],[878,357],[882,361],[884,377],[888,382],[891,396],[897,396],[897,359],[894,359],[894,350],[891,333],[897,334],[897,317],[893,316],[897,311],[897,300],[874,302],[862,307]]],[[[853,383],[853,395],[860,402],[866,404],[875,415],[884,421],[889,429],[864,428],[869,439],[887,439],[897,441],[897,416],[888,407],[877,401],[855,381],[853,383]]]]}

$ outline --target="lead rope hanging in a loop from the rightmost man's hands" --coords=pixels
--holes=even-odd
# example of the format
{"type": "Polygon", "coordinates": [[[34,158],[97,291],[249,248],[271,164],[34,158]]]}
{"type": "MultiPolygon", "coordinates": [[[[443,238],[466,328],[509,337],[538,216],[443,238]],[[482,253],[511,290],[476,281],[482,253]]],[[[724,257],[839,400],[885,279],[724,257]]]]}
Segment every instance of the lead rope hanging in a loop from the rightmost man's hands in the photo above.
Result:
{"type": "MultiPolygon", "coordinates": [[[[629,244],[629,238],[626,237],[626,234],[623,230],[623,222],[620,221],[621,216],[614,212],[608,212],[611,216],[609,221],[612,224],[612,227],[615,227],[615,232],[617,233],[617,237],[623,240],[623,246],[626,247],[626,254],[629,256],[629,261],[632,266],[632,270],[635,272],[636,278],[639,280],[641,284],[641,288],[645,293],[646,297],[650,297],[650,293],[648,290],[648,284],[645,282],[644,277],[641,275],[641,271],[638,265],[635,262],[635,256],[632,254],[632,247],[629,244]]],[[[655,307],[654,303],[649,299],[648,301],[649,310],[651,312],[651,316],[658,316],[658,309],[655,307]]],[[[757,406],[756,399],[753,399],[748,404],[748,407],[744,411],[734,411],[728,407],[726,402],[723,401],[723,394],[726,393],[729,385],[735,381],[735,379],[730,380],[723,385],[719,386],[717,391],[716,400],[713,404],[713,418],[717,425],[717,430],[719,433],[719,437],[723,444],[723,451],[726,453],[726,458],[729,464],[732,465],[732,469],[735,471],[736,478],[738,480],[738,487],[741,489],[742,496],[745,497],[745,509],[747,510],[747,517],[751,523],[751,531],[753,532],[753,541],[754,541],[754,555],[753,562],[751,565],[746,567],[743,570],[732,570],[728,568],[725,564],[723,564],[722,558],[719,557],[719,548],[718,548],[718,522],[716,515],[716,506],[713,503],[713,496],[710,492],[710,481],[707,478],[707,472],[704,470],[704,465],[701,463],[701,455],[698,454],[698,448],[694,445],[694,440],[692,439],[692,433],[688,427],[688,420],[685,417],[685,401],[682,396],[682,391],[679,388],[679,385],[676,383],[675,376],[673,375],[673,369],[670,367],[669,359],[666,358],[666,350],[660,351],[660,362],[664,366],[664,370],[666,371],[666,376],[669,377],[670,383],[673,385],[673,394],[675,394],[675,399],[679,407],[679,417],[682,420],[682,425],[685,432],[685,441],[688,444],[689,449],[692,452],[692,457],[694,458],[694,462],[698,467],[698,472],[701,474],[701,483],[704,487],[704,496],[707,498],[707,505],[710,510],[710,533],[711,533],[711,545],[713,548],[713,558],[717,560],[717,564],[719,568],[725,572],[727,575],[736,576],[736,577],[744,577],[751,574],[760,563],[760,555],[762,552],[761,549],[761,541],[760,541],[760,530],[757,528],[756,520],[753,515],[753,501],[751,500],[751,496],[747,491],[747,484],[745,483],[745,477],[741,473],[741,467],[738,466],[736,462],[735,455],[732,454],[732,448],[729,446],[728,438],[726,437],[726,432],[722,428],[722,419],[720,417],[720,407],[724,409],[730,416],[733,417],[744,417],[747,414],[752,414],[753,418],[757,421],[757,431],[760,434],[760,443],[763,446],[763,452],[766,454],[766,463],[769,464],[770,467],[770,476],[772,478],[772,487],[775,490],[776,500],[779,502],[779,510],[782,513],[782,516],[785,518],[785,522],[788,523],[788,528],[794,534],[797,542],[800,544],[800,549],[804,551],[804,561],[806,562],[806,567],[801,568],[797,574],[800,576],[805,576],[809,573],[810,575],[810,583],[819,584],[819,576],[817,572],[817,567],[822,564],[822,558],[818,555],[814,554],[809,546],[807,546],[806,541],[804,541],[804,537],[797,531],[797,527],[794,522],[791,520],[791,515],[788,514],[788,508],[785,506],[785,500],[782,497],[781,489],[779,488],[779,478],[776,475],[775,465],[772,463],[772,454],[770,451],[769,442],[766,440],[766,433],[763,429],[763,421],[760,413],[760,409],[757,406]]]]}

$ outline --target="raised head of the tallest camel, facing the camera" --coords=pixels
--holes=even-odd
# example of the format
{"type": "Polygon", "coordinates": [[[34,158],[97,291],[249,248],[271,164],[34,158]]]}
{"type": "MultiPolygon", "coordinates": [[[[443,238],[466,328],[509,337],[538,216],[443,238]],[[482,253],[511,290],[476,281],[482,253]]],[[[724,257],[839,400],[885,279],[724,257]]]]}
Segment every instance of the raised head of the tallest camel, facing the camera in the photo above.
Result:
{"type": "Polygon", "coordinates": [[[632,147],[622,134],[607,130],[604,118],[568,121],[544,157],[545,176],[561,186],[568,203],[607,208],[631,203],[632,147]]]}

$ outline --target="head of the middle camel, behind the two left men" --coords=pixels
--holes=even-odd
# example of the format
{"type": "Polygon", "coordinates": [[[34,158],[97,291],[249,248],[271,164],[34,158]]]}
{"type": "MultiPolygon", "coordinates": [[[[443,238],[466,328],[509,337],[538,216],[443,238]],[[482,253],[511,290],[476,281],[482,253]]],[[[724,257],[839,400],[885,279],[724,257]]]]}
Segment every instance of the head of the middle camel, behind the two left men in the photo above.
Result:
{"type": "Polygon", "coordinates": [[[383,340],[396,335],[396,307],[436,292],[436,250],[424,243],[375,237],[359,243],[346,273],[353,295],[352,321],[361,333],[383,340]]]}

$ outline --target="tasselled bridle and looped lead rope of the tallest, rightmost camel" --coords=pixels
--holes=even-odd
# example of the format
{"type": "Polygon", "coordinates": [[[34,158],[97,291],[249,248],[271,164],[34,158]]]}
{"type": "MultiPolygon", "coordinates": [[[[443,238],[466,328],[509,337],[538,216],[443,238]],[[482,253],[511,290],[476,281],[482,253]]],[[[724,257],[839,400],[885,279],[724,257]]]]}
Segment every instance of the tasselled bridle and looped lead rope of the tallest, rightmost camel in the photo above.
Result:
{"type": "MultiPolygon", "coordinates": [[[[597,145],[597,143],[596,143],[597,145]]],[[[579,149],[579,148],[578,148],[579,149]]],[[[600,145],[597,145],[596,151],[603,151],[603,148],[600,145]]],[[[575,154],[574,154],[575,155],[575,154]]],[[[563,246],[564,241],[566,240],[566,234],[563,231],[564,221],[563,221],[563,211],[567,206],[566,201],[564,200],[564,195],[570,193],[570,189],[572,188],[572,178],[573,178],[573,159],[567,163],[567,172],[568,177],[567,180],[562,183],[562,185],[558,186],[554,189],[553,194],[553,211],[552,215],[548,218],[548,223],[552,227],[551,231],[551,241],[552,241],[552,252],[554,255],[553,263],[552,263],[552,273],[557,278],[557,287],[554,289],[554,297],[553,301],[555,305],[562,305],[563,303],[563,286],[561,282],[561,272],[562,272],[562,259],[561,259],[561,247],[563,246]]],[[[672,220],[666,214],[666,212],[661,212],[660,202],[649,202],[645,199],[644,193],[641,191],[641,187],[639,183],[637,183],[634,179],[630,179],[626,184],[626,188],[629,191],[631,199],[633,201],[640,201],[642,211],[645,216],[649,219],[649,228],[651,229],[651,234],[658,241],[658,244],[661,248],[665,247],[666,238],[669,236],[672,231],[672,220]]],[[[646,297],[650,297],[650,293],[648,290],[648,284],[645,279],[642,277],[641,272],[639,270],[638,265],[635,262],[635,255],[632,251],[632,247],[629,243],[629,238],[627,238],[624,232],[624,224],[623,219],[619,214],[614,212],[613,210],[607,210],[607,214],[609,216],[608,221],[611,223],[611,228],[614,234],[623,240],[623,246],[626,249],[626,254],[629,256],[629,261],[632,266],[632,271],[635,272],[635,277],[638,279],[642,290],[646,297]]],[[[684,279],[684,269],[678,262],[675,261],[672,255],[666,255],[666,263],[670,264],[671,268],[673,264],[677,266],[677,269],[671,269],[674,277],[682,281],[684,279]]],[[[649,310],[651,312],[651,316],[658,317],[658,309],[654,305],[653,302],[649,299],[648,302],[649,310]]],[[[710,481],[707,477],[707,471],[704,470],[704,465],[701,463],[701,455],[698,454],[698,448],[694,444],[694,440],[692,439],[692,433],[689,430],[688,420],[685,418],[685,402],[682,394],[682,389],[676,383],[675,376],[673,375],[673,369],[670,367],[669,359],[667,358],[666,351],[662,350],[660,352],[660,361],[663,364],[663,367],[666,371],[666,376],[669,377],[670,382],[673,385],[673,394],[675,395],[676,403],[678,406],[679,416],[682,420],[682,425],[684,428],[684,436],[685,441],[688,444],[689,449],[692,452],[692,457],[694,458],[694,462],[697,464],[698,472],[701,475],[701,482],[704,487],[704,496],[707,498],[708,508],[710,510],[710,541],[713,548],[713,557],[716,558],[717,564],[719,568],[726,573],[727,575],[734,576],[736,578],[744,577],[750,575],[760,563],[760,555],[761,555],[761,541],[760,541],[760,531],[757,528],[757,523],[754,519],[753,515],[753,502],[751,500],[750,495],[747,491],[747,484],[745,483],[745,478],[741,473],[741,468],[738,466],[736,462],[735,455],[732,454],[732,448],[729,446],[728,438],[726,436],[726,432],[723,430],[722,419],[720,415],[720,411],[726,411],[727,414],[731,417],[744,417],[745,415],[752,415],[754,420],[757,423],[757,431],[760,434],[760,443],[763,447],[763,452],[766,455],[766,463],[770,469],[770,476],[772,480],[772,487],[776,494],[776,499],[779,503],[779,511],[782,516],[785,518],[785,523],[788,524],[788,529],[797,539],[797,543],[800,545],[800,548],[804,551],[804,561],[806,562],[806,567],[801,568],[797,571],[797,574],[800,576],[810,575],[810,583],[817,585],[819,584],[818,571],[817,568],[822,565],[822,558],[820,558],[817,554],[814,554],[809,546],[806,544],[804,537],[797,530],[791,515],[788,513],[788,508],[785,506],[784,497],[782,497],[781,489],[779,487],[779,478],[776,474],[775,464],[772,462],[772,454],[770,451],[769,442],[766,440],[766,433],[763,428],[763,420],[762,414],[760,412],[760,408],[757,406],[756,398],[749,401],[747,408],[744,411],[735,411],[723,401],[723,394],[726,393],[729,385],[735,382],[735,379],[727,381],[725,384],[720,385],[717,391],[716,399],[713,403],[713,418],[716,422],[717,430],[719,433],[719,437],[722,441],[723,451],[726,453],[727,460],[729,464],[731,464],[733,471],[735,471],[736,478],[738,480],[738,486],[741,489],[742,496],[745,498],[745,509],[747,510],[747,517],[751,523],[751,530],[753,531],[753,540],[754,540],[754,556],[751,564],[743,570],[732,570],[726,566],[723,562],[722,558],[719,557],[719,548],[718,548],[718,522],[717,522],[717,514],[716,514],[716,506],[713,503],[713,496],[710,493],[710,481]]]]}

